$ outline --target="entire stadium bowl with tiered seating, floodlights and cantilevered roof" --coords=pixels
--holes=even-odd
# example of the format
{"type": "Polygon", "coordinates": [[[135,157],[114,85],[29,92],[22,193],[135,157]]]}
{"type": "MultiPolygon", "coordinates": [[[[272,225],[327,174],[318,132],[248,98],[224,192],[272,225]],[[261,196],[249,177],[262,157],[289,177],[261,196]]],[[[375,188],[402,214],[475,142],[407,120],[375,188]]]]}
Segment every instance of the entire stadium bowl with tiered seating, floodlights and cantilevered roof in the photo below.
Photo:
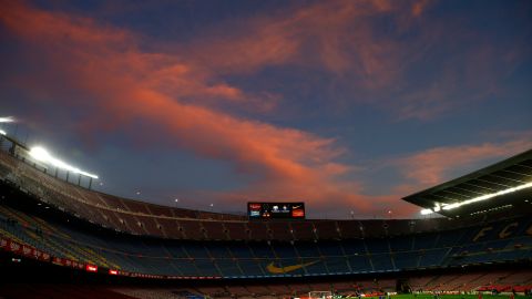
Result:
{"type": "Polygon", "coordinates": [[[403,198],[443,217],[306,220],[121,198],[58,178],[8,135],[1,145],[6,298],[463,297],[532,288],[532,151],[403,198]]]}

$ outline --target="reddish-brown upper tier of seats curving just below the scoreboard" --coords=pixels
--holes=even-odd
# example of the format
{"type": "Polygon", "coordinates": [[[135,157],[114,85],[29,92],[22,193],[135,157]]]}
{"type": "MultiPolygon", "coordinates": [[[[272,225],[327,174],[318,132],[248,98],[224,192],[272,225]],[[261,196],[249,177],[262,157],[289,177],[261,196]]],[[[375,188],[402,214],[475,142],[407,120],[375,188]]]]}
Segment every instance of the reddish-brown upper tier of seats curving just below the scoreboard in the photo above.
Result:
{"type": "Polygon", "coordinates": [[[174,239],[324,240],[400,236],[462,225],[461,221],[440,218],[248,223],[245,216],[164,207],[125,199],[76,186],[53,175],[0,151],[0,181],[9,182],[43,204],[103,227],[133,235],[174,239]],[[208,219],[215,221],[206,221],[208,219]],[[200,224],[201,221],[204,223],[200,224]]]}

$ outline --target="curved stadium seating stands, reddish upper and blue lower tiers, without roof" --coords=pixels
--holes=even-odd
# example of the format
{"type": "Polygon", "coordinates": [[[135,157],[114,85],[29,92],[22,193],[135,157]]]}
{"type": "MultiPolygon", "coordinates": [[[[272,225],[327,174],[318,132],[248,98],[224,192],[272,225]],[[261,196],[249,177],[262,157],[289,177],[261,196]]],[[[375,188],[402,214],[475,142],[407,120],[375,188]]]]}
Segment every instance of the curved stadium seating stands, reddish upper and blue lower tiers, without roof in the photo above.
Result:
{"type": "MultiPolygon", "coordinates": [[[[396,290],[398,276],[411,290],[530,289],[531,270],[519,268],[532,260],[530,213],[490,215],[497,216],[248,220],[94,192],[0,151],[2,257],[132,279],[213,282],[103,288],[98,298],[120,298],[111,297],[113,290],[123,298],[382,293],[396,290]],[[504,267],[463,271],[490,265],[504,267]],[[265,278],[272,280],[256,282],[265,278]]],[[[11,295],[23,296],[20,286],[10,285],[11,295]]],[[[41,287],[34,293],[42,298],[57,291],[54,286],[41,287]]],[[[65,287],[66,295],[84,298],[76,291],[65,287]]]]}

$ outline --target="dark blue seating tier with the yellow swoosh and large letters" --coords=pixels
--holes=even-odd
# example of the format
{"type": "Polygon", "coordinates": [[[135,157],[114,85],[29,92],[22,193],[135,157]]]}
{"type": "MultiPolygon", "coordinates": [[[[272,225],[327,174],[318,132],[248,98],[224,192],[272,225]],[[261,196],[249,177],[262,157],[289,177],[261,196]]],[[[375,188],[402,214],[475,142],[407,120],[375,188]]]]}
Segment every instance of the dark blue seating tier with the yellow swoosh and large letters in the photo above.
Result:
{"type": "MultiPolygon", "coordinates": [[[[2,200],[3,203],[8,204],[9,200],[2,200]]],[[[50,210],[39,204],[35,209],[50,210]]],[[[263,277],[387,272],[420,266],[441,267],[532,257],[532,248],[516,247],[523,237],[530,238],[528,230],[532,226],[532,219],[526,217],[437,233],[341,241],[238,243],[191,236],[188,240],[177,243],[121,233],[111,233],[111,236],[94,234],[91,229],[72,229],[70,224],[75,218],[66,218],[66,223],[61,223],[54,220],[54,217],[44,216],[45,213],[30,214],[2,205],[0,234],[59,258],[160,276],[263,277]],[[493,230],[493,234],[485,233],[487,227],[492,227],[490,231],[493,230]],[[509,231],[508,227],[512,228],[513,234],[504,235],[504,243],[501,243],[500,231],[509,231]],[[417,245],[413,246],[415,244],[417,245]],[[293,266],[296,266],[295,269],[290,268],[293,266]]],[[[204,224],[212,224],[186,223],[186,229],[196,231],[205,230],[204,224]]],[[[483,277],[479,283],[492,282],[487,279],[483,277]]],[[[440,280],[437,281],[439,285],[450,285],[452,279],[440,280]]]]}

